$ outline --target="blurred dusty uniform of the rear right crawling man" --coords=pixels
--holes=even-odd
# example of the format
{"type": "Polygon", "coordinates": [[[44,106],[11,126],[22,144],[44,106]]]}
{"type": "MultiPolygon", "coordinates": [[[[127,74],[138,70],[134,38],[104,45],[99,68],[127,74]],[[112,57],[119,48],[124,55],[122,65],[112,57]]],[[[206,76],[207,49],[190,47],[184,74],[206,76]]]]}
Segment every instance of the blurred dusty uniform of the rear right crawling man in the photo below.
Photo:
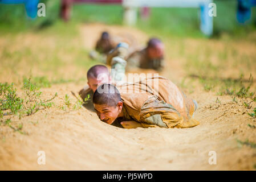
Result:
{"type": "Polygon", "coordinates": [[[164,57],[160,59],[149,59],[147,55],[147,49],[144,48],[141,51],[135,51],[127,58],[128,69],[143,68],[143,69],[155,69],[161,71],[164,68],[164,57]]]}

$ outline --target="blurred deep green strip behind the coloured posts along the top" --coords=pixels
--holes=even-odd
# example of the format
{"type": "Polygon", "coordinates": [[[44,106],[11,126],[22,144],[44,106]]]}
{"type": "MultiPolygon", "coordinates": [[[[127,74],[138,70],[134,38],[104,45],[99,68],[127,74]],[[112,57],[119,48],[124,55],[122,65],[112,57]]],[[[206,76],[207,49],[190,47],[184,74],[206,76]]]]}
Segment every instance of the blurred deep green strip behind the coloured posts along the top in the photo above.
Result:
{"type": "MultiPolygon", "coordinates": [[[[60,19],[62,1],[39,1],[46,5],[46,16],[35,18],[34,20],[27,18],[24,5],[10,5],[5,4],[6,2],[8,1],[2,1],[0,4],[1,32],[38,31],[38,29],[42,30],[42,28],[53,26],[67,26],[60,19]]],[[[251,11],[250,20],[242,24],[237,20],[239,1],[217,0],[213,2],[216,3],[217,16],[213,18],[214,26],[212,36],[221,36],[224,33],[233,36],[244,36],[247,32],[255,30],[255,4],[251,6],[245,5],[251,11]]],[[[184,1],[184,6],[186,6],[186,3],[188,2],[184,1]]],[[[253,4],[255,2],[251,1],[251,3],[253,4]]],[[[74,3],[70,1],[67,4],[70,5],[70,13],[68,13],[70,15],[67,15],[69,16],[69,25],[91,22],[123,24],[124,8],[121,5],[121,0],[76,0],[74,3]]],[[[139,19],[135,26],[144,31],[153,31],[157,32],[157,34],[169,36],[202,36],[198,28],[200,27],[200,10],[198,9],[200,7],[150,7],[148,9],[141,7],[137,10],[139,19]]]]}

